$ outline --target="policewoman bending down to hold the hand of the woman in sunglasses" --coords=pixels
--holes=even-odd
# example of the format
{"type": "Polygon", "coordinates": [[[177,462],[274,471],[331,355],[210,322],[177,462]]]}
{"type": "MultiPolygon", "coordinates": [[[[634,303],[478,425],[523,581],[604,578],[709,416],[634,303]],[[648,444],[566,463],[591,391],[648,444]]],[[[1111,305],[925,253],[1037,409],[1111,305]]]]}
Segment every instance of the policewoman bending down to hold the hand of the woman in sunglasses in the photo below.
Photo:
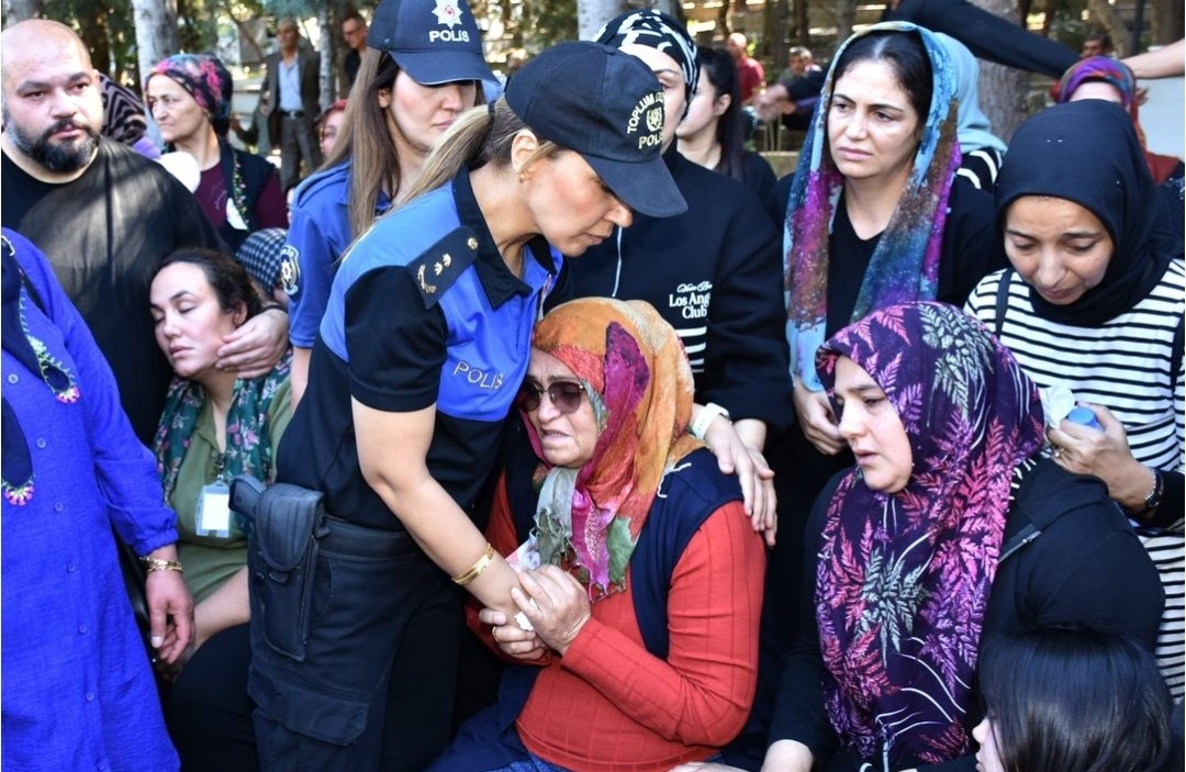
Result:
{"type": "Polygon", "coordinates": [[[560,255],[633,210],[686,206],[659,155],[662,110],[637,59],[555,46],[465,114],[409,203],[345,255],[279,452],[279,479],[323,491],[331,518],[299,650],[253,631],[262,768],[420,770],[444,749],[455,586],[516,611],[514,569],[470,515],[560,255]]]}

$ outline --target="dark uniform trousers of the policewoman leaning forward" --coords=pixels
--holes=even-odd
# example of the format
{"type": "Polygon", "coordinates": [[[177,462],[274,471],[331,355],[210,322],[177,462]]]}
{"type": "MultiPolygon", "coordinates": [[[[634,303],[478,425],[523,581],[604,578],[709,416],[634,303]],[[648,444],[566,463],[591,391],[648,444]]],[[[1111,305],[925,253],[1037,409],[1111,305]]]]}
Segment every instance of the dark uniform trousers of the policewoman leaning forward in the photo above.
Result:
{"type": "Polygon", "coordinates": [[[251,606],[248,690],[261,767],[427,767],[452,734],[458,589],[407,534],[334,521],[320,542],[312,604],[301,661],[269,645],[251,606]]]}

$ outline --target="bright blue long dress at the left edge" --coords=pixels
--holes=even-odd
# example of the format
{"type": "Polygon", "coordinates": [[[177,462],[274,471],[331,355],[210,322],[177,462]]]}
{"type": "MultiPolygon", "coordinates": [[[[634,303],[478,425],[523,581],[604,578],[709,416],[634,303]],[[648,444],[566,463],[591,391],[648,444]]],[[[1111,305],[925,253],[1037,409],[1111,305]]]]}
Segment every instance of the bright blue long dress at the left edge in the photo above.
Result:
{"type": "Polygon", "coordinates": [[[4,398],[33,477],[25,503],[11,487],[2,497],[0,759],[6,772],[177,770],[113,534],[146,555],[177,541],[176,516],[110,368],[45,256],[4,236],[0,249],[14,249],[27,276],[19,295],[27,337],[44,343],[38,358],[53,357],[77,393],[55,393],[6,345],[4,398]]]}

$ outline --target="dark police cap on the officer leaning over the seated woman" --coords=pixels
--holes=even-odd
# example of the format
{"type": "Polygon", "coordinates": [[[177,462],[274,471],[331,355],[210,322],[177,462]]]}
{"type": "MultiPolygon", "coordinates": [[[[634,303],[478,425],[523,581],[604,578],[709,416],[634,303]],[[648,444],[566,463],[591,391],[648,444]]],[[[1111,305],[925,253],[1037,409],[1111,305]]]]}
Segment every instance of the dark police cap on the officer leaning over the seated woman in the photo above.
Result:
{"type": "Polygon", "coordinates": [[[663,162],[663,88],[637,58],[599,43],[561,43],[506,84],[506,103],[546,140],[575,151],[632,210],[688,210],[663,162]]]}

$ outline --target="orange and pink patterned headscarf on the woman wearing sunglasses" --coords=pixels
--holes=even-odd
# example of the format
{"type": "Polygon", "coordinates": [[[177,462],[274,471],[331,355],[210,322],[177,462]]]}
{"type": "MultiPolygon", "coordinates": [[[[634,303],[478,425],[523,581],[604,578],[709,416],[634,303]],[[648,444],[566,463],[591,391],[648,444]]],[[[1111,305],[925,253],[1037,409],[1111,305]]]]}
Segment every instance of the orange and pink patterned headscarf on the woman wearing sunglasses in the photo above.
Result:
{"type": "MultiPolygon", "coordinates": [[[[625,588],[626,566],[663,476],[701,447],[684,433],[691,368],[671,325],[640,300],[566,302],[538,324],[533,346],[573,371],[599,428],[585,466],[537,468],[541,562],[569,570],[597,600],[625,588]]],[[[528,434],[543,458],[530,423],[528,434]]]]}

